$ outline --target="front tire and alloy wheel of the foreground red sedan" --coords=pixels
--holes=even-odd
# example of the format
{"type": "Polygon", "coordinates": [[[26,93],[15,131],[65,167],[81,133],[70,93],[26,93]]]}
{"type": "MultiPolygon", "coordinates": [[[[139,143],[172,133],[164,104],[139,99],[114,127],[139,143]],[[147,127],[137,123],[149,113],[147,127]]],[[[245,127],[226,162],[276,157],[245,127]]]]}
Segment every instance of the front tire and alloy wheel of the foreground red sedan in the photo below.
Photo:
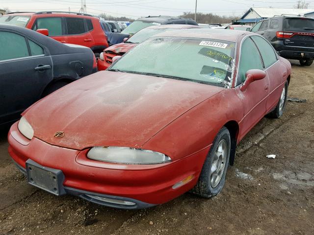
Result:
{"type": "Polygon", "coordinates": [[[192,193],[209,198],[217,195],[221,191],[225,184],[226,172],[229,165],[230,143],[231,140],[228,129],[226,127],[221,128],[205,159],[198,182],[196,186],[191,189],[192,193]],[[222,149],[224,149],[224,151],[220,151],[222,149]],[[217,168],[220,170],[217,170],[217,168]],[[216,174],[217,176],[215,176],[216,174]]]}

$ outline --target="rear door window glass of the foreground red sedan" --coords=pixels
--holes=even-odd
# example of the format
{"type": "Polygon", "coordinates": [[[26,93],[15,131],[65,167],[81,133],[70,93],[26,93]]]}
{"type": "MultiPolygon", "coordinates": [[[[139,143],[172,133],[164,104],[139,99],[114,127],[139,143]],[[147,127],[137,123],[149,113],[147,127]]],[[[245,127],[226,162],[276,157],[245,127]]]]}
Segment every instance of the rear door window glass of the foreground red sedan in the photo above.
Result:
{"type": "Polygon", "coordinates": [[[269,66],[274,64],[277,61],[277,56],[273,47],[270,46],[269,43],[262,37],[252,36],[252,39],[261,52],[265,68],[268,68],[269,66]]]}

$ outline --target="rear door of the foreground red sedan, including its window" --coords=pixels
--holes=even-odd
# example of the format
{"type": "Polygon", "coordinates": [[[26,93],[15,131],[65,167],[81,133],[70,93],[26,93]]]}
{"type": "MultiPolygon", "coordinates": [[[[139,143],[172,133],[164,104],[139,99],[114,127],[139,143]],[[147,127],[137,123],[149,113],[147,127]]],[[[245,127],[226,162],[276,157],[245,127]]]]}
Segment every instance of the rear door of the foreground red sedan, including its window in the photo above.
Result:
{"type": "Polygon", "coordinates": [[[252,36],[252,39],[261,52],[269,80],[269,95],[266,103],[266,112],[268,113],[277,105],[281,96],[287,77],[286,67],[280,63],[275,49],[264,38],[252,36]]]}

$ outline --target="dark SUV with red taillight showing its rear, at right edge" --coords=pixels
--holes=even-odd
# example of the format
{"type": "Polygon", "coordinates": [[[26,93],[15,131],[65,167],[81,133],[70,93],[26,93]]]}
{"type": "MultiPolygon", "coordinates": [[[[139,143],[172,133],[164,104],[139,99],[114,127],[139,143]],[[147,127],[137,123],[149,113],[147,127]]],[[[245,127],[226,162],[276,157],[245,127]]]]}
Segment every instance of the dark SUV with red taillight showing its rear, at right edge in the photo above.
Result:
{"type": "Polygon", "coordinates": [[[261,34],[279,54],[310,66],[314,60],[314,19],[300,16],[274,16],[257,23],[252,32],[261,34]]]}

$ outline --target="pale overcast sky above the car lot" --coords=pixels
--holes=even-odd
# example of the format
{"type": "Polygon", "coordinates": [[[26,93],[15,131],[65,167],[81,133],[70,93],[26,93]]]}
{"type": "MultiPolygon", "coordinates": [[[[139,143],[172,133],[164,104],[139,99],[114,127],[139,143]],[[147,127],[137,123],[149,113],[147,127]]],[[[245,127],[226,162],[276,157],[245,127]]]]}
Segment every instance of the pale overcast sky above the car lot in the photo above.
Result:
{"type": "MultiPolygon", "coordinates": [[[[11,11],[71,11],[78,12],[80,0],[0,0],[0,8],[11,11]]],[[[309,8],[314,8],[314,0],[309,8]]],[[[250,7],[293,8],[296,0],[197,0],[197,11],[217,15],[242,16],[250,7]],[[277,3],[274,3],[277,2],[277,3]]],[[[105,12],[112,16],[137,19],[148,15],[178,16],[184,11],[195,11],[195,0],[86,0],[87,13],[105,12]]]]}

